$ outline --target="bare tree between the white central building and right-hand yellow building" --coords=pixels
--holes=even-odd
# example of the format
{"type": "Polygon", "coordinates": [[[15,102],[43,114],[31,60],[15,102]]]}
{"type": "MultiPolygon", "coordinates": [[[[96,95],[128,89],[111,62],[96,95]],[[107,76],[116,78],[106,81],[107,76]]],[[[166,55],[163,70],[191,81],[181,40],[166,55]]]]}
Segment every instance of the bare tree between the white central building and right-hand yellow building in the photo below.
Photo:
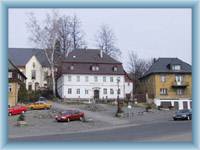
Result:
{"type": "Polygon", "coordinates": [[[134,53],[134,51],[129,52],[128,70],[133,80],[133,94],[141,92],[141,84],[139,78],[141,78],[144,75],[144,73],[150,68],[152,63],[152,59],[141,59],[136,53],[134,53]]]}

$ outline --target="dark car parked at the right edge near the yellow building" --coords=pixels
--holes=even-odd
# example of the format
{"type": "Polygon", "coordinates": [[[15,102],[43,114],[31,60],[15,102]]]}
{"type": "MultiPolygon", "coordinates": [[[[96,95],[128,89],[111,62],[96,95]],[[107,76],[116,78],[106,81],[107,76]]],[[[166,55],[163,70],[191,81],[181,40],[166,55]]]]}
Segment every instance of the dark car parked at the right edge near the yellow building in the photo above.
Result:
{"type": "Polygon", "coordinates": [[[192,119],[192,110],[191,109],[181,109],[176,111],[173,115],[174,120],[191,120],[192,119]]]}

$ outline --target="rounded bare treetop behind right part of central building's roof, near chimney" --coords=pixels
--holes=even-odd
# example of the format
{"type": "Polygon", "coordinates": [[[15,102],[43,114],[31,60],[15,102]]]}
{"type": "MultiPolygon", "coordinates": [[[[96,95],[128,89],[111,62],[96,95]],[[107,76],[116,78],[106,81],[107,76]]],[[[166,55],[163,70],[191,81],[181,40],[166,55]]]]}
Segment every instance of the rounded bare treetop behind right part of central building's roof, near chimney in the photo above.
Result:
{"type": "Polygon", "coordinates": [[[107,25],[102,25],[95,36],[96,45],[107,55],[116,58],[121,54],[120,50],[115,46],[116,37],[107,25]]]}

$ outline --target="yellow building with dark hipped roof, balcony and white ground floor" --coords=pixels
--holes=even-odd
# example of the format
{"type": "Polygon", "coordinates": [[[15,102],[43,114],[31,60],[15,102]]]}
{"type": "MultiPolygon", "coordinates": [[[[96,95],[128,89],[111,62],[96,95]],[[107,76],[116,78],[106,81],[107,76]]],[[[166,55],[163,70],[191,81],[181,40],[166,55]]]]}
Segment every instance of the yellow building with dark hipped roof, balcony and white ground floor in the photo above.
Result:
{"type": "Polygon", "coordinates": [[[159,58],[140,79],[157,106],[192,108],[191,65],[178,58],[159,58]]]}

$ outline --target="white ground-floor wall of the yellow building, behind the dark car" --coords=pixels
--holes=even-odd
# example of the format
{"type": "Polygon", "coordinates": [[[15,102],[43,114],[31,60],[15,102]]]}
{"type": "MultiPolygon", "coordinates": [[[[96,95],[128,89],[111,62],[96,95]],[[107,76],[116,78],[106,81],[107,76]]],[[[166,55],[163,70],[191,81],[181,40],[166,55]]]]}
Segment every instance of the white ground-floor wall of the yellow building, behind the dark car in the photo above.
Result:
{"type": "Polygon", "coordinates": [[[185,109],[184,103],[186,103],[187,109],[192,109],[192,100],[190,99],[169,99],[169,100],[160,100],[160,99],[154,99],[154,103],[156,106],[160,106],[162,102],[170,102],[171,106],[175,106],[175,103],[178,104],[178,109],[185,109]]]}

